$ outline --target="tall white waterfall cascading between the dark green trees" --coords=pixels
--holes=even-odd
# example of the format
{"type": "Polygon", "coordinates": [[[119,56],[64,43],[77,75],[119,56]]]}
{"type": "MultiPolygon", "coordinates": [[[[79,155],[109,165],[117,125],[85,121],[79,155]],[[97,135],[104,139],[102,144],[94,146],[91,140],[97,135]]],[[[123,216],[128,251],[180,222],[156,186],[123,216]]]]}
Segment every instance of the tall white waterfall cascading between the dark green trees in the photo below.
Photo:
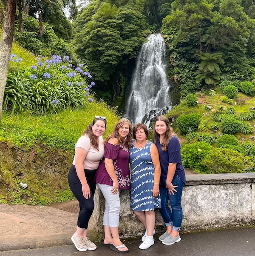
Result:
{"type": "Polygon", "coordinates": [[[150,35],[142,45],[125,108],[133,124],[142,122],[150,128],[153,118],[166,114],[171,108],[164,63],[166,53],[167,46],[160,34],[150,35]]]}

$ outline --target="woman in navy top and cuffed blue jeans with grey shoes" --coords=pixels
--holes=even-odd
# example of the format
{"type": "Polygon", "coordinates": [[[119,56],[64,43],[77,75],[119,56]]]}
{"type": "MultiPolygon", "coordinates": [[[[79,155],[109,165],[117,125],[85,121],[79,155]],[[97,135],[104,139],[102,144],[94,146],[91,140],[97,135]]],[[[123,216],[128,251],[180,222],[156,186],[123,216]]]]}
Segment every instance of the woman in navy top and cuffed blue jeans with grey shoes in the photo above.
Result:
{"type": "Polygon", "coordinates": [[[182,221],[181,194],[186,179],[181,163],[179,139],[173,133],[168,118],[164,116],[159,116],[155,120],[154,143],[159,150],[161,167],[159,210],[167,227],[167,231],[159,236],[159,240],[163,244],[170,245],[181,241],[179,235],[182,221]],[[168,201],[172,210],[168,206],[168,201]]]}

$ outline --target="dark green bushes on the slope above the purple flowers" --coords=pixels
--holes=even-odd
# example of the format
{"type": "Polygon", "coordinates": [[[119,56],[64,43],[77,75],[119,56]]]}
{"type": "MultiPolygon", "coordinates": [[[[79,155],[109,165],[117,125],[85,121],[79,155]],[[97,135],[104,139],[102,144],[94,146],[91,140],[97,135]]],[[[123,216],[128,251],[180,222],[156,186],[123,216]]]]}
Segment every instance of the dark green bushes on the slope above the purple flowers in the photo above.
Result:
{"type": "Polygon", "coordinates": [[[43,23],[43,29],[41,36],[38,21],[34,17],[28,17],[28,19],[24,20],[23,32],[15,31],[14,37],[25,49],[35,55],[68,55],[72,60],[77,61],[71,44],[58,38],[52,26],[48,25],[48,23],[43,23]]]}

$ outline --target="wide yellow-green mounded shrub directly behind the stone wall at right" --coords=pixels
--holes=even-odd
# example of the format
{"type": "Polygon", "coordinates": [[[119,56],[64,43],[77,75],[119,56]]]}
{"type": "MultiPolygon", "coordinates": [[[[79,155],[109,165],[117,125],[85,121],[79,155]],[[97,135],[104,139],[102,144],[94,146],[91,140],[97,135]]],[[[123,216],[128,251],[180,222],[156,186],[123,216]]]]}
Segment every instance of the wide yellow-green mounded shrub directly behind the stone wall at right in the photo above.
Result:
{"type": "Polygon", "coordinates": [[[214,148],[208,157],[201,161],[201,165],[206,166],[210,173],[244,173],[246,168],[254,164],[251,158],[235,150],[214,148]]]}

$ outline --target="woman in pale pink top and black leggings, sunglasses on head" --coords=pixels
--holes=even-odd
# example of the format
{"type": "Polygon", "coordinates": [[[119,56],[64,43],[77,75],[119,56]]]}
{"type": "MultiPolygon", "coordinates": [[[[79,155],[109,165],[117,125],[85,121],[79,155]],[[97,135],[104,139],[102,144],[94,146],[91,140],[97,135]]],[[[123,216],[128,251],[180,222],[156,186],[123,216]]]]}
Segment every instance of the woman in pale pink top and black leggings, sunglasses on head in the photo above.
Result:
{"type": "Polygon", "coordinates": [[[94,210],[96,169],[104,156],[102,135],[106,129],[106,118],[95,116],[93,122],[83,132],[75,144],[73,164],[69,170],[68,183],[79,201],[77,230],[71,237],[79,251],[96,250],[96,244],[87,237],[88,221],[94,210]]]}

